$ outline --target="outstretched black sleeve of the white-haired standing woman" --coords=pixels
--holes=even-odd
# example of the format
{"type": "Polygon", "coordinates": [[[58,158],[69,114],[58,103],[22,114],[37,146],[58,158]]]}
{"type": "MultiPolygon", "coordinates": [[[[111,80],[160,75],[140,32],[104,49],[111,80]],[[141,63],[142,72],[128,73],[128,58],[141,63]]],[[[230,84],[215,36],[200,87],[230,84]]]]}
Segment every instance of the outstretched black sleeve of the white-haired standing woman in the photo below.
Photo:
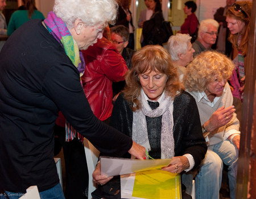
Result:
{"type": "Polygon", "coordinates": [[[44,79],[42,92],[99,151],[110,156],[122,156],[130,150],[133,144],[131,138],[96,118],[82,89],[79,72],[67,63],[64,60],[62,64],[52,67],[44,79]]]}

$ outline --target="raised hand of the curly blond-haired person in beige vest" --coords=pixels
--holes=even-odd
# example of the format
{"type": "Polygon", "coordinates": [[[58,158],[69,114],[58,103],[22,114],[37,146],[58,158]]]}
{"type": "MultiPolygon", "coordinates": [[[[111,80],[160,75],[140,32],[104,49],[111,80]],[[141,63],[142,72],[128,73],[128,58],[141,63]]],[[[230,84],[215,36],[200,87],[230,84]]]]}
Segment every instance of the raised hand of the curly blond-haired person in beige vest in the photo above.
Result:
{"type": "Polygon", "coordinates": [[[216,110],[210,119],[204,123],[204,128],[208,132],[214,131],[216,128],[226,125],[233,118],[233,114],[236,109],[234,106],[229,106],[224,109],[224,106],[216,110]]]}

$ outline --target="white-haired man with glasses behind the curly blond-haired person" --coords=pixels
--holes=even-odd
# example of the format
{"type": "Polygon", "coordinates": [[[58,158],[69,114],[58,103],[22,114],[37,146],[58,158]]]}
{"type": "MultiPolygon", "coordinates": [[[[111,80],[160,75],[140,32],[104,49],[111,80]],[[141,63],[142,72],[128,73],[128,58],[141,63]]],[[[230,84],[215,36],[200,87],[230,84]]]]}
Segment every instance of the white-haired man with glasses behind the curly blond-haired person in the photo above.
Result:
{"type": "Polygon", "coordinates": [[[203,51],[211,50],[210,46],[215,44],[218,36],[218,26],[218,22],[214,19],[201,21],[197,40],[192,44],[192,48],[195,49],[194,57],[203,51]]]}

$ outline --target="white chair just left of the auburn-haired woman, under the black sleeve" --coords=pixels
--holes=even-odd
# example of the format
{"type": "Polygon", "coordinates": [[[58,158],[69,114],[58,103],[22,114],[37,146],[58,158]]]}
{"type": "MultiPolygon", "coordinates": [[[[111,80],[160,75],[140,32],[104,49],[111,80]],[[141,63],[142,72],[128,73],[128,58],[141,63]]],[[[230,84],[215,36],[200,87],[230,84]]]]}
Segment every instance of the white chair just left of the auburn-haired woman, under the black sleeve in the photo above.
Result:
{"type": "Polygon", "coordinates": [[[88,199],[92,198],[91,193],[97,188],[97,184],[93,183],[92,173],[95,169],[95,166],[98,162],[98,156],[100,155],[100,151],[97,150],[93,146],[92,143],[86,138],[84,138],[84,151],[86,156],[86,162],[89,173],[89,187],[88,187],[88,199]]]}

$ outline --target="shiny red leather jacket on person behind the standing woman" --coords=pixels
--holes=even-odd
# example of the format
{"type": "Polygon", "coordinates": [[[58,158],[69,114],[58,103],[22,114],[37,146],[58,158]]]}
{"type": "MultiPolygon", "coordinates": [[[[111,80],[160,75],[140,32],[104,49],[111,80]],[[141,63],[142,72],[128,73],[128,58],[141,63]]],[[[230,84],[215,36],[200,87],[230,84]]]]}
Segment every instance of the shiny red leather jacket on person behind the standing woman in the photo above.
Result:
{"type": "Polygon", "coordinates": [[[113,109],[112,83],[125,80],[125,60],[105,34],[96,44],[81,52],[86,63],[81,77],[85,96],[93,114],[105,121],[111,116],[113,109]]]}

